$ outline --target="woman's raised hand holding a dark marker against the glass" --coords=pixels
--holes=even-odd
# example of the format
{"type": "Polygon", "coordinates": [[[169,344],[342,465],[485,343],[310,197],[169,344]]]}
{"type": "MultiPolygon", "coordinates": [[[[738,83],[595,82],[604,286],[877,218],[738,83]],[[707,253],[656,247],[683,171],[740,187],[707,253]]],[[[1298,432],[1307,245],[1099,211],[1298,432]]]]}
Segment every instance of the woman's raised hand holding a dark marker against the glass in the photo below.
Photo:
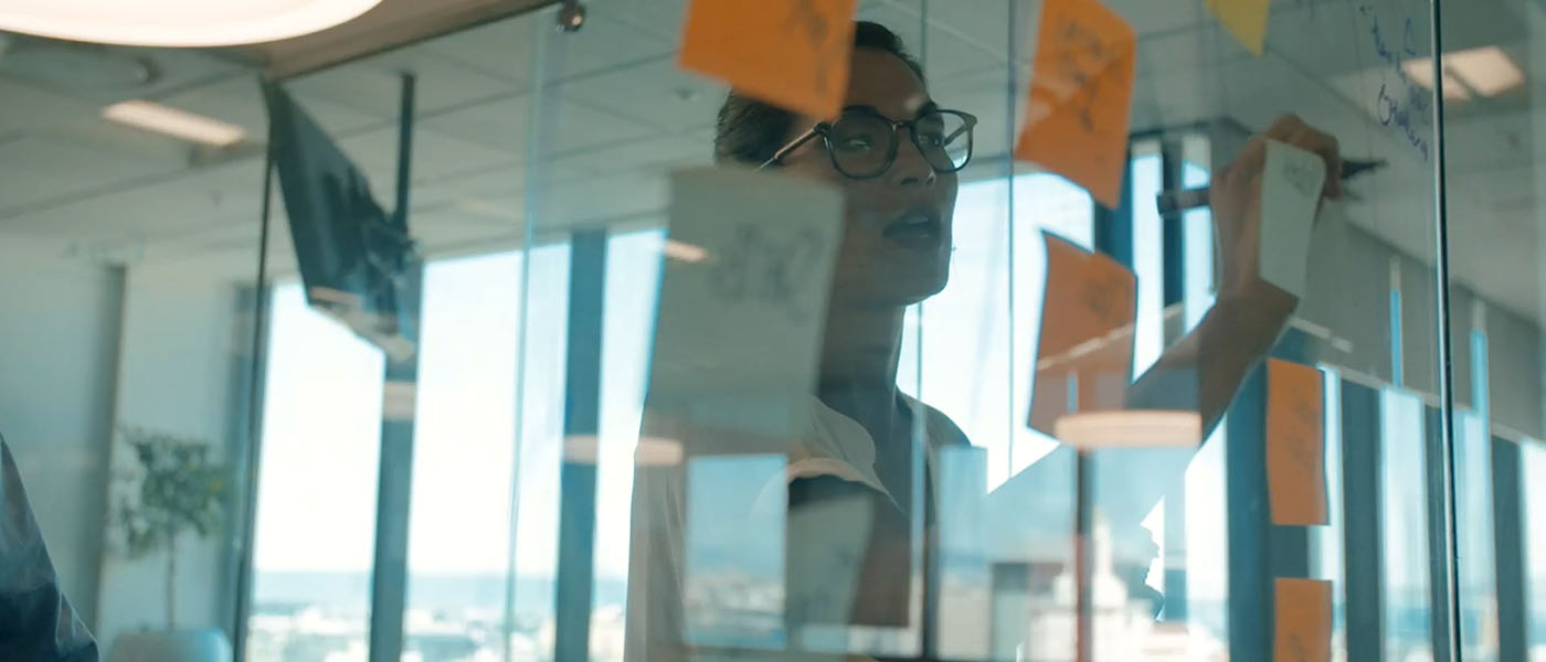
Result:
{"type": "MultiPolygon", "coordinates": [[[[1268,309],[1292,310],[1297,298],[1272,287],[1260,278],[1262,242],[1262,171],[1266,165],[1266,142],[1277,140],[1320,154],[1326,162],[1322,198],[1342,194],[1342,153],[1337,139],[1292,114],[1272,122],[1266,131],[1251,137],[1240,156],[1214,174],[1209,198],[1214,225],[1218,231],[1221,270],[1218,298],[1221,301],[1257,302],[1268,309]]],[[[1319,205],[1316,210],[1319,211],[1319,205]]],[[[1268,247],[1268,250],[1272,250],[1268,247]]]]}

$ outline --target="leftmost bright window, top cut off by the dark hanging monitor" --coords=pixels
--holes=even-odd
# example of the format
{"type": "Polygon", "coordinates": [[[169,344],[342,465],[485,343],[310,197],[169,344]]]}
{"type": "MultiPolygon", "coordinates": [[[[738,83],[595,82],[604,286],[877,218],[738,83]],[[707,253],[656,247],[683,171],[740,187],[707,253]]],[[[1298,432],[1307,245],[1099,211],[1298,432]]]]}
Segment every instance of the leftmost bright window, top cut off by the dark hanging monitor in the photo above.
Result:
{"type": "Polygon", "coordinates": [[[369,623],[382,353],[274,289],[247,659],[360,657],[369,623]]]}

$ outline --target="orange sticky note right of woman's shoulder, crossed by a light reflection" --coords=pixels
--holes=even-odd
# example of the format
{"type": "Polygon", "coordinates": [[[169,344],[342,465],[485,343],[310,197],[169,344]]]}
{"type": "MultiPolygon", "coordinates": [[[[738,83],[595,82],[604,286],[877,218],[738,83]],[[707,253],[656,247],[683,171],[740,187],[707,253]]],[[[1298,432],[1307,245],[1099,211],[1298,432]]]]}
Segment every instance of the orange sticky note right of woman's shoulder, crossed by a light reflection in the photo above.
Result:
{"type": "Polygon", "coordinates": [[[1071,412],[1122,409],[1133,366],[1133,272],[1051,233],[1030,426],[1053,435],[1071,412]]]}

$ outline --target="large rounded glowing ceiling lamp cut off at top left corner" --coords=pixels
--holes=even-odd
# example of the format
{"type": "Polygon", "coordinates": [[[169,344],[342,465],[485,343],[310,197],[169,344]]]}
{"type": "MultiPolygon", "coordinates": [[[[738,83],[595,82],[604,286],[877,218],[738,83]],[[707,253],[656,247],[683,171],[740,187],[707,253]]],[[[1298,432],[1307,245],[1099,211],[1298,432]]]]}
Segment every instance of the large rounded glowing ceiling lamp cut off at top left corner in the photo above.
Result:
{"type": "Polygon", "coordinates": [[[0,29],[128,46],[233,46],[300,37],[380,0],[0,0],[0,29]]]}

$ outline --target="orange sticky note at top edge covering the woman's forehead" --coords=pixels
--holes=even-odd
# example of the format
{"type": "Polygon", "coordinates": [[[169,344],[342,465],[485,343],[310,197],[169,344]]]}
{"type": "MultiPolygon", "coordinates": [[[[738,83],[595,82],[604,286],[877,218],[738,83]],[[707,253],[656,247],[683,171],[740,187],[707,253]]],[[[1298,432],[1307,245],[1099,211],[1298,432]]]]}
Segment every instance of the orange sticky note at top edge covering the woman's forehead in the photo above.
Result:
{"type": "Polygon", "coordinates": [[[793,111],[836,117],[858,0],[693,0],[682,68],[793,111]]]}

